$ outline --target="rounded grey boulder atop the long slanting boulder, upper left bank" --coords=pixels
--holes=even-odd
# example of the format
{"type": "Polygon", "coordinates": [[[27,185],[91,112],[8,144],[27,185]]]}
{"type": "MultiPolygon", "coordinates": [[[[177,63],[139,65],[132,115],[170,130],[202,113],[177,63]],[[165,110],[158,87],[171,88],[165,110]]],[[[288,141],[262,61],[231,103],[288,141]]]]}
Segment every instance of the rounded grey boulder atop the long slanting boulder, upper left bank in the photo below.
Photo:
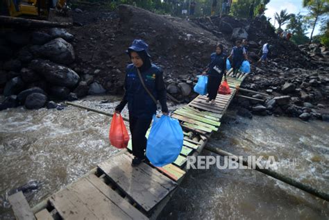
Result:
{"type": "Polygon", "coordinates": [[[60,64],[67,65],[75,59],[73,46],[62,38],[56,38],[42,46],[31,46],[31,50],[38,56],[60,64]]]}

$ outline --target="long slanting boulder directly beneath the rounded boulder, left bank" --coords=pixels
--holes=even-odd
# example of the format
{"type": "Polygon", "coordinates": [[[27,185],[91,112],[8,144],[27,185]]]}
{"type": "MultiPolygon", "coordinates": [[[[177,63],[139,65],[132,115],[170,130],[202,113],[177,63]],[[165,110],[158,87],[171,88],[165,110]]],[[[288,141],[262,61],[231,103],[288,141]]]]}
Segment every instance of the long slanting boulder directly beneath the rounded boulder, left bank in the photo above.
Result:
{"type": "Polygon", "coordinates": [[[80,76],[72,69],[56,65],[49,60],[33,60],[29,67],[53,85],[74,87],[80,80],[80,76]]]}

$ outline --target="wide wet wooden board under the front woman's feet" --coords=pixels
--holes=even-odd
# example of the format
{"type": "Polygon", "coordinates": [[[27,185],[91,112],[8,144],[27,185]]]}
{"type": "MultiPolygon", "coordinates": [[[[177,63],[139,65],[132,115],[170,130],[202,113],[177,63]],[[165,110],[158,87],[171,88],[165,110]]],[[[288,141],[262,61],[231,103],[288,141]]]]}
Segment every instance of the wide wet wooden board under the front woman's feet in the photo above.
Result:
{"type": "MultiPolygon", "coordinates": [[[[140,166],[148,166],[144,163],[140,166]]],[[[146,212],[155,207],[174,187],[166,176],[153,178],[153,172],[146,173],[139,167],[131,167],[131,158],[128,155],[117,155],[98,165],[110,180],[113,181],[127,196],[140,205],[146,212]],[[170,182],[170,183],[169,183],[170,182]]],[[[176,186],[175,186],[176,187],[176,186]]]]}

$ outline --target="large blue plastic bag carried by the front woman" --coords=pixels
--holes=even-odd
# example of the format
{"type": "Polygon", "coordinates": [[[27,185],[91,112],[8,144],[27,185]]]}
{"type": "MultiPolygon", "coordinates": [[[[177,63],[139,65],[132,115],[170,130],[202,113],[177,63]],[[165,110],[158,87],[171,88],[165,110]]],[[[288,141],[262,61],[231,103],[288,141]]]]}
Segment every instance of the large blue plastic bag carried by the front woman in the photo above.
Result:
{"type": "Polygon", "coordinates": [[[153,115],[153,124],[147,139],[146,157],[155,167],[174,162],[183,147],[183,130],[177,119],[153,115]]]}

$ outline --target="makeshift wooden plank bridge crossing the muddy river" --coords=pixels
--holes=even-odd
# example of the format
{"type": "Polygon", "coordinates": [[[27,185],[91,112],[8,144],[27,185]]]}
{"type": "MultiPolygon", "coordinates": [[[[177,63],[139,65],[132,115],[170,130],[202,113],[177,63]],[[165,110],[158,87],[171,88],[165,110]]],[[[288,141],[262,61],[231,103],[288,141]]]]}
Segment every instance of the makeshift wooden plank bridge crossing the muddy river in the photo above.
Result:
{"type": "Polygon", "coordinates": [[[227,77],[230,95],[217,95],[214,105],[206,103],[205,96],[197,96],[174,111],[172,117],[180,121],[184,133],[183,149],[175,162],[165,167],[146,163],[131,167],[129,143],[128,149],[33,208],[22,192],[10,196],[17,219],[156,219],[185,177],[187,156],[199,155],[210,135],[219,130],[236,88],[246,78],[246,74],[238,78],[231,74],[227,77]]]}

